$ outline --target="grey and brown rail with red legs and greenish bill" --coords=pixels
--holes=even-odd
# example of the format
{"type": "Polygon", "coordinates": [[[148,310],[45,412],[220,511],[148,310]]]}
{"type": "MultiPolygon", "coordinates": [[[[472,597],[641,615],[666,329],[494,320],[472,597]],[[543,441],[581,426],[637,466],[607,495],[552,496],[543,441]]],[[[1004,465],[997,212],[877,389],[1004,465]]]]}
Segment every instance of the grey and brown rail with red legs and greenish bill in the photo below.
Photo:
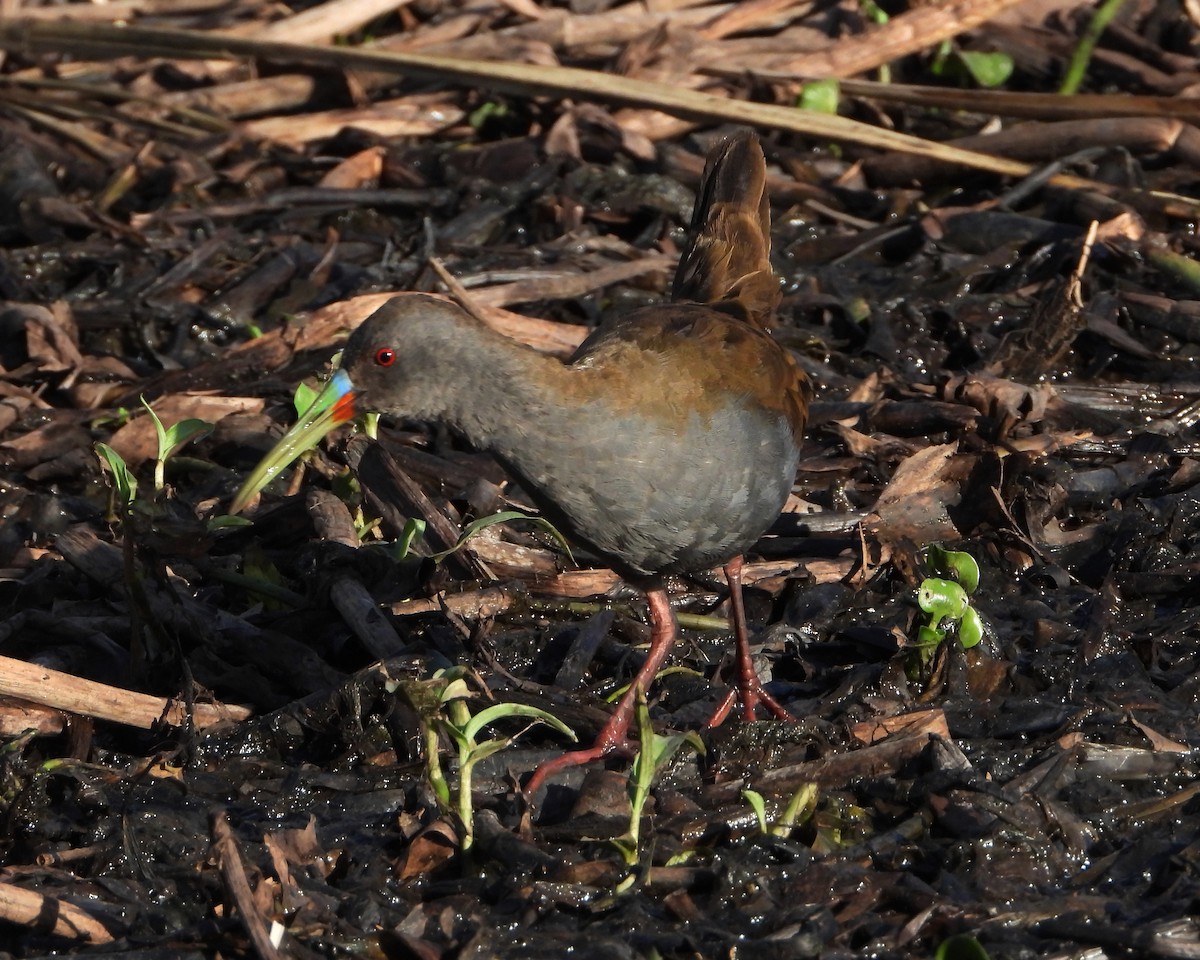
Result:
{"type": "Polygon", "coordinates": [[[743,716],[761,704],[791,719],[754,670],[742,602],[743,554],[792,490],[811,398],[769,332],[780,295],[766,158],[743,131],[707,158],[670,302],[604,323],[564,362],[448,300],[397,295],[350,335],[316,412],[264,457],[233,510],[359,412],[442,424],[490,451],[568,540],[640,588],[643,665],[595,743],[538,767],[528,797],[569,767],[636,749],[635,703],[676,640],[676,575],[724,569],[743,716]]]}

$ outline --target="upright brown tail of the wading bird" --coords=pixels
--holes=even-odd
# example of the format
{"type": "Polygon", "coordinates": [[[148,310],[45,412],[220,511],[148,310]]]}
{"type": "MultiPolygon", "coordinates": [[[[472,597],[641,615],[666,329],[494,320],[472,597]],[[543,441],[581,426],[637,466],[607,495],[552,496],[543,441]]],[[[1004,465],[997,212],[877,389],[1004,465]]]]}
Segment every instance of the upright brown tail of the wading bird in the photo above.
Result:
{"type": "Polygon", "coordinates": [[[691,229],[672,299],[769,326],[780,292],[770,269],[767,161],[754,133],[731,137],[709,154],[691,229]]]}

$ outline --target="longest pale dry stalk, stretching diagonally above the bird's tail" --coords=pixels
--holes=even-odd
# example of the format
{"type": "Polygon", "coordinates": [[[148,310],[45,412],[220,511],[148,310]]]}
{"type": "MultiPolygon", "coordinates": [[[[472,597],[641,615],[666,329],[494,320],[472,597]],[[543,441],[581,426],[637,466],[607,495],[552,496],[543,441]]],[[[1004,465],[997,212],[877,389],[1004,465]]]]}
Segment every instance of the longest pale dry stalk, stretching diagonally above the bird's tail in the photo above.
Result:
{"type": "MultiPolygon", "coordinates": [[[[95,56],[179,56],[187,59],[258,56],[284,62],[335,66],[342,70],[379,70],[421,79],[461,83],[518,96],[548,95],[607,100],[632,107],[649,107],[703,121],[728,121],[773,127],[811,137],[846,140],[882,150],[898,150],[961,163],[1009,176],[1025,176],[1027,163],[943,146],[919,137],[871,127],[844,116],[796,110],[768,103],[749,103],[728,97],[614,77],[576,67],[552,67],[460,60],[428,54],[383,53],[341,47],[314,47],[245,40],[227,34],[156,30],[71,23],[12,19],[0,23],[0,46],[17,50],[42,50],[95,56]]],[[[1060,176],[1056,186],[1106,190],[1106,185],[1074,176],[1060,176]]]]}

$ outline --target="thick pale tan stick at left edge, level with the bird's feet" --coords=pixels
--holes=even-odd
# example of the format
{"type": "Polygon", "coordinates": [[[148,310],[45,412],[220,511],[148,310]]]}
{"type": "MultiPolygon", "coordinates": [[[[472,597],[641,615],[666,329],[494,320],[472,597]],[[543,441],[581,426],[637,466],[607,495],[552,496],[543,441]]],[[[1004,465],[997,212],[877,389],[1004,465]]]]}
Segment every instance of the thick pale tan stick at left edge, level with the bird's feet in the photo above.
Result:
{"type": "MultiPolygon", "coordinates": [[[[179,701],[134,694],[10,656],[0,656],[0,694],[143,730],[160,721],[182,726],[187,720],[187,708],[179,701]]],[[[197,703],[192,722],[197,728],[210,727],[222,721],[245,720],[251,713],[246,707],[197,703]]]]}

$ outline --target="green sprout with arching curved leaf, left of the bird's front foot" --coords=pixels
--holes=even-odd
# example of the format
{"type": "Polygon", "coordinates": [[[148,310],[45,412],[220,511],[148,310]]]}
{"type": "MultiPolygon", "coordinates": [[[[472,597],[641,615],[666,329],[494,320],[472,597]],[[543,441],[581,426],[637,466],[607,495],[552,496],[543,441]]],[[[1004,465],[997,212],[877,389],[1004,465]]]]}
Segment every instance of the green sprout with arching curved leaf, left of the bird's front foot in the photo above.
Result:
{"type": "MultiPolygon", "coordinates": [[[[542,722],[576,740],[575,732],[553,714],[524,703],[496,703],[472,715],[467,698],[472,696],[467,685],[467,668],[454,666],[437,671],[427,680],[400,680],[398,686],[406,700],[416,710],[425,743],[425,763],[430,785],[438,804],[458,818],[463,852],[475,841],[475,814],[472,797],[472,779],[475,764],[510,746],[520,733],[480,742],[485,727],[499,720],[527,718],[542,722]],[[458,754],[458,784],[451,788],[442,769],[440,736],[454,743],[458,754]]],[[[528,728],[528,727],[527,727],[528,728]]],[[[522,731],[524,732],[524,731],[522,731]]]]}

